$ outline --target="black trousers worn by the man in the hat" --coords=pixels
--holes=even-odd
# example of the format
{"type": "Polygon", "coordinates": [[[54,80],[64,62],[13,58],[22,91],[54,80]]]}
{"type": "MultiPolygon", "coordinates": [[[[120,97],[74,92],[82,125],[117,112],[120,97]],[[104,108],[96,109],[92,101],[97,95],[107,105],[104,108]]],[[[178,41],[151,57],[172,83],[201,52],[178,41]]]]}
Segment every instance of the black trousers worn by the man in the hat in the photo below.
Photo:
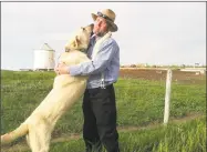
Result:
{"type": "Polygon", "coordinates": [[[86,89],[83,98],[83,139],[86,152],[120,152],[116,131],[116,104],[113,84],[106,89],[86,89]]]}

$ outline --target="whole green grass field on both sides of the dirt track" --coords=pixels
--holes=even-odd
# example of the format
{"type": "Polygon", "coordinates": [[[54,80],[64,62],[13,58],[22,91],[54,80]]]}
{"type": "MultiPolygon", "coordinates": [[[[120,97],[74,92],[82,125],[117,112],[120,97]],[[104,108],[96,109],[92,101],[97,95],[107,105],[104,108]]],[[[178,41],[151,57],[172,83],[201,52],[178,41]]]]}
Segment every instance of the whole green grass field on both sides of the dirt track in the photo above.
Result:
{"type": "MultiPolygon", "coordinates": [[[[1,71],[1,134],[15,129],[44,99],[52,88],[53,72],[1,71]]],[[[189,80],[189,78],[187,78],[189,80]]],[[[206,113],[206,79],[203,83],[173,82],[170,120],[206,113]]],[[[199,81],[199,82],[200,82],[199,81]]],[[[183,82],[183,81],[182,81],[183,82]]],[[[141,128],[157,124],[156,129],[121,132],[123,152],[203,152],[206,145],[205,119],[167,126],[163,123],[165,81],[120,78],[115,83],[118,128],[141,128]],[[180,142],[179,142],[180,141],[180,142]]],[[[61,118],[53,138],[82,132],[81,103],[61,118]]],[[[83,141],[53,143],[51,152],[81,152],[83,141]],[[73,151],[75,150],[75,151],[73,151]]]]}

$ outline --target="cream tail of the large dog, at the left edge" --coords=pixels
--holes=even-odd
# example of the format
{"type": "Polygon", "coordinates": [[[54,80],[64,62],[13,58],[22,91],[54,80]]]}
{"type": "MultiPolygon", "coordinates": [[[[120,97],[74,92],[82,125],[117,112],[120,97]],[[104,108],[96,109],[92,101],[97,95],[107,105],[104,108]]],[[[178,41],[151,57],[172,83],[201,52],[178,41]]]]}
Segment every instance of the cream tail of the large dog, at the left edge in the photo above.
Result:
{"type": "Polygon", "coordinates": [[[14,141],[15,139],[25,135],[28,133],[28,131],[29,131],[28,124],[22,123],[14,131],[11,131],[9,133],[1,135],[1,144],[3,145],[7,143],[10,143],[10,142],[14,141]]]}

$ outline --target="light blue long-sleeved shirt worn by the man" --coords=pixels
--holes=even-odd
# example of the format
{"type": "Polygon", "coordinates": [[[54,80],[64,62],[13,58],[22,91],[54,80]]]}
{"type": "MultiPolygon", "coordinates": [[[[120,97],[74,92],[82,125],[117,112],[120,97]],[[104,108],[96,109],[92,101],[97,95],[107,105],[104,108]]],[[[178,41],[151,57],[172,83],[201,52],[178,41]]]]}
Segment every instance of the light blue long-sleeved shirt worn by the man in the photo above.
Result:
{"type": "MultiPolygon", "coordinates": [[[[92,37],[87,50],[91,59],[95,44],[95,37],[92,37]]],[[[120,48],[112,38],[106,39],[100,47],[100,51],[93,60],[77,65],[69,67],[71,75],[89,75],[87,89],[101,87],[101,75],[104,74],[104,84],[108,85],[117,81],[120,72],[120,48]]]]}

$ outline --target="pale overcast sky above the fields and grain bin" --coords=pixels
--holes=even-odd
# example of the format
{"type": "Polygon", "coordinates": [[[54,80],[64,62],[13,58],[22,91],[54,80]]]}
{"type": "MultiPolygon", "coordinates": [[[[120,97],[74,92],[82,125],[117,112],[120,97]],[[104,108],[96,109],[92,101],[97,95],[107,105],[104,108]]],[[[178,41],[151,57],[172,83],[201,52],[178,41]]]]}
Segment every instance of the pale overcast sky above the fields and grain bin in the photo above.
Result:
{"type": "Polygon", "coordinates": [[[112,9],[121,64],[206,64],[205,2],[2,2],[1,69],[32,69],[48,43],[55,61],[71,33],[112,9]]]}

